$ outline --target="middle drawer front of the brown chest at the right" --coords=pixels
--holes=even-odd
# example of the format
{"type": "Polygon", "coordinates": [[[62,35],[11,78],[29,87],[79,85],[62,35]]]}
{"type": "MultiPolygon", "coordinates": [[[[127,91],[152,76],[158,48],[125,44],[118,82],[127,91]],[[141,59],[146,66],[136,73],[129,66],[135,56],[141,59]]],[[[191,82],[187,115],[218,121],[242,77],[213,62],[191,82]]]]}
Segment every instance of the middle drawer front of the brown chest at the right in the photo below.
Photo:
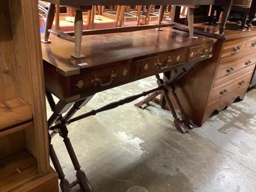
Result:
{"type": "Polygon", "coordinates": [[[218,67],[216,74],[216,80],[214,86],[224,83],[248,70],[252,70],[256,63],[255,53],[248,54],[236,60],[230,60],[225,63],[221,63],[218,67]]]}

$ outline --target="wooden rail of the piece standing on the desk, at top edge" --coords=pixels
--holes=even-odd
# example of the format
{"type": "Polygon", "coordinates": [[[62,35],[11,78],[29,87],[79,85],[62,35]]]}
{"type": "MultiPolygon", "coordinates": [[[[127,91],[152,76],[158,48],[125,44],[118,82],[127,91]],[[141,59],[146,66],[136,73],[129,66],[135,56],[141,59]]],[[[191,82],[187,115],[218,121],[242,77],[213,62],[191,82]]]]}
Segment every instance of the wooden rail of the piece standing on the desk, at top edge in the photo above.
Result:
{"type": "MultiPolygon", "coordinates": [[[[214,4],[215,0],[46,0],[49,3],[60,4],[60,5],[69,5],[69,6],[88,6],[88,5],[147,5],[147,4],[214,4]]],[[[225,1],[225,0],[223,0],[225,1]]],[[[229,0],[228,0],[229,1],[229,0]]]]}

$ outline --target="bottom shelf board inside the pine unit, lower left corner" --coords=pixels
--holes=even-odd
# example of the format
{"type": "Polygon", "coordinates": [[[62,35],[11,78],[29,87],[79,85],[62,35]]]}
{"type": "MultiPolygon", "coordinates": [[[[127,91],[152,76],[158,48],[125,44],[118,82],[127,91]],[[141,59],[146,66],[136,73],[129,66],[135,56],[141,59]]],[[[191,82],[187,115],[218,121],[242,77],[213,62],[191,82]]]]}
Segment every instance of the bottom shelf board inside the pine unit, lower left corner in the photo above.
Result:
{"type": "Polygon", "coordinates": [[[38,177],[37,163],[28,151],[0,159],[0,191],[13,189],[38,177]]]}

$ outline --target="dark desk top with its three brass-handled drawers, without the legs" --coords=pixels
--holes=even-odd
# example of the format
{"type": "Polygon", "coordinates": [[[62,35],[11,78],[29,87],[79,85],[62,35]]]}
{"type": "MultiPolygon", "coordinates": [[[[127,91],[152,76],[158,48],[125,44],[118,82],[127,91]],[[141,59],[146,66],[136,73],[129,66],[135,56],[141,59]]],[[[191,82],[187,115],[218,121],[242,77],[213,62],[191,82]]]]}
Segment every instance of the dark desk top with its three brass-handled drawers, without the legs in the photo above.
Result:
{"type": "Polygon", "coordinates": [[[165,72],[190,60],[204,60],[211,57],[214,42],[206,36],[189,38],[188,33],[170,27],[86,35],[81,44],[86,58],[75,59],[70,56],[73,42],[56,36],[50,39],[51,44],[42,44],[45,86],[66,101],[165,72]],[[204,50],[207,55],[198,56],[204,50]]]}

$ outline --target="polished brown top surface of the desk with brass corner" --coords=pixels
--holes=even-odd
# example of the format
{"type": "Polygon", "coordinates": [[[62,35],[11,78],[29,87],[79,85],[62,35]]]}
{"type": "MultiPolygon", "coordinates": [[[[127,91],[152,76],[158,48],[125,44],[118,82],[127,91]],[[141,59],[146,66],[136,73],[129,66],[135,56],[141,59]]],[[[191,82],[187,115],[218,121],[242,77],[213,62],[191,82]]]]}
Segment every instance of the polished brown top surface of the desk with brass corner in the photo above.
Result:
{"type": "Polygon", "coordinates": [[[188,33],[164,28],[163,31],[148,29],[129,33],[111,33],[83,36],[81,53],[83,59],[71,58],[74,43],[50,36],[51,44],[42,44],[43,59],[56,66],[64,76],[97,65],[108,65],[116,61],[143,59],[164,51],[184,49],[193,44],[204,44],[212,40],[204,36],[188,38],[188,33]],[[79,66],[80,63],[88,65],[79,66]]]}

